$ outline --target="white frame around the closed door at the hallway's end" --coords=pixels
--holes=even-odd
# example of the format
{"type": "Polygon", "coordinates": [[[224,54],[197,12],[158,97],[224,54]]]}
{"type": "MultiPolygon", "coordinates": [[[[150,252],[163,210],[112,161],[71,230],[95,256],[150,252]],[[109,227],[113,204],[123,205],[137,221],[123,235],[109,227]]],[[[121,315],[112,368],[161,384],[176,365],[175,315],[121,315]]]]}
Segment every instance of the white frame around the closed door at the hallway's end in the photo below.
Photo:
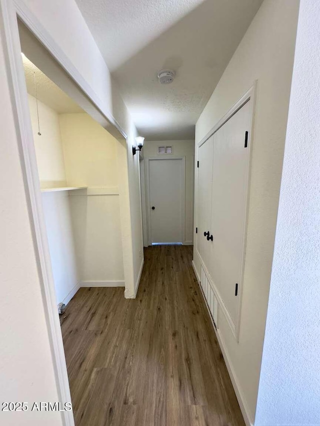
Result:
{"type": "Polygon", "coordinates": [[[182,173],[181,173],[181,180],[182,180],[182,194],[181,194],[181,231],[182,231],[182,244],[185,244],[185,156],[184,155],[170,155],[168,157],[158,157],[158,156],[152,156],[147,157],[145,159],[145,186],[146,186],[146,218],[147,218],[147,242],[148,245],[152,245],[151,240],[151,216],[150,216],[150,210],[151,210],[151,204],[150,204],[150,161],[153,160],[182,160],[182,173]]]}

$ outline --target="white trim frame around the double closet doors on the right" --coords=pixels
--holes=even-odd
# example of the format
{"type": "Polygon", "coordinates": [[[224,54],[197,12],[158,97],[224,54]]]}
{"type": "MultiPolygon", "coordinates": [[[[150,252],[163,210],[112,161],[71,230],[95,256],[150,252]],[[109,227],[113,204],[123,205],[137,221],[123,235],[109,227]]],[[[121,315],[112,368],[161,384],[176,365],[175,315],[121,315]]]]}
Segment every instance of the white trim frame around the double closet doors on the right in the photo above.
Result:
{"type": "MultiPolygon", "coordinates": [[[[196,144],[196,156],[199,158],[199,148],[201,145],[203,145],[215,132],[219,130],[220,127],[223,126],[231,117],[234,115],[245,103],[251,100],[251,107],[250,107],[250,123],[248,126],[249,134],[248,134],[248,166],[247,166],[247,185],[246,185],[246,191],[245,191],[245,225],[243,230],[243,250],[242,250],[242,257],[241,257],[241,272],[238,282],[238,310],[237,310],[237,316],[236,316],[236,322],[234,323],[223,303],[223,300],[219,294],[219,291],[214,284],[214,281],[212,280],[212,277],[210,276],[205,264],[203,263],[203,260],[199,254],[199,251],[197,249],[197,236],[199,234],[194,234],[194,250],[196,255],[198,256],[200,263],[205,270],[206,275],[210,279],[210,284],[213,289],[213,292],[218,300],[219,312],[223,312],[224,317],[226,319],[226,322],[228,326],[231,329],[231,332],[236,339],[236,341],[239,341],[239,331],[240,331],[240,319],[241,319],[241,307],[242,307],[242,294],[243,294],[243,279],[244,279],[244,269],[245,269],[245,251],[246,251],[246,238],[247,238],[247,227],[248,227],[248,210],[249,210],[249,192],[250,192],[250,173],[251,173],[251,159],[252,159],[252,141],[253,141],[253,128],[254,128],[254,112],[255,112],[255,101],[256,101],[256,85],[257,80],[253,81],[252,86],[235,102],[234,105],[226,112],[225,115],[206,133],[206,135],[196,144]]],[[[194,218],[195,223],[197,221],[197,186],[198,186],[198,172],[197,168],[196,170],[196,179],[195,179],[195,194],[194,194],[194,218]]]]}

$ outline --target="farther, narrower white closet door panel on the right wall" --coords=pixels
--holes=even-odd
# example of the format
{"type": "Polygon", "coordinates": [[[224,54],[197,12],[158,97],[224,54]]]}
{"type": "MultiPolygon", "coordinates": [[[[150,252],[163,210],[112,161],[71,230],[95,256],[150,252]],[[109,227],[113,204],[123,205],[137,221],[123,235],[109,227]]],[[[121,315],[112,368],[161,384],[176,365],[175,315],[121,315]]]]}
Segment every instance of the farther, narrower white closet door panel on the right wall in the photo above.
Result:
{"type": "Polygon", "coordinates": [[[208,263],[208,245],[204,232],[211,225],[211,185],[212,185],[213,136],[199,147],[199,170],[197,189],[197,250],[204,265],[208,263]]]}

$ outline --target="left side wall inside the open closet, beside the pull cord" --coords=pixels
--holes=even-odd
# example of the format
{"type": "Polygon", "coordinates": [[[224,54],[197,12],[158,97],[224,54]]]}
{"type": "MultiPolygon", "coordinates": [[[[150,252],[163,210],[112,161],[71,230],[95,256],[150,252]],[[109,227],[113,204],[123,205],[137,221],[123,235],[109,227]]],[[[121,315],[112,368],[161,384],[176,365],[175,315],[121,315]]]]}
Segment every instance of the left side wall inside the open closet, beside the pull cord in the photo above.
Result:
{"type": "MultiPolygon", "coordinates": [[[[40,186],[42,188],[65,186],[59,116],[53,109],[38,101],[41,132],[41,135],[38,135],[36,100],[28,95],[28,101],[40,186]]],[[[59,302],[66,304],[78,289],[79,282],[68,193],[42,193],[42,205],[56,304],[59,302]]]]}

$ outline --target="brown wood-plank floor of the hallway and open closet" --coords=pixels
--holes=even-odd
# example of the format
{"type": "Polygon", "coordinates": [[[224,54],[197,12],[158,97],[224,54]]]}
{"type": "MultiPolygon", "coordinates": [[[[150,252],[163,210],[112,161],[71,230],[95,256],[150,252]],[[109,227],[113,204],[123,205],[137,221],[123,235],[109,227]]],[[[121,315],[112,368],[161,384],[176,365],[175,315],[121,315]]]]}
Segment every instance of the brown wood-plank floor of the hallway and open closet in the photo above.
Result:
{"type": "Polygon", "coordinates": [[[191,246],[148,247],[135,300],[81,288],[69,302],[76,426],[244,425],[191,256],[191,246]]]}

